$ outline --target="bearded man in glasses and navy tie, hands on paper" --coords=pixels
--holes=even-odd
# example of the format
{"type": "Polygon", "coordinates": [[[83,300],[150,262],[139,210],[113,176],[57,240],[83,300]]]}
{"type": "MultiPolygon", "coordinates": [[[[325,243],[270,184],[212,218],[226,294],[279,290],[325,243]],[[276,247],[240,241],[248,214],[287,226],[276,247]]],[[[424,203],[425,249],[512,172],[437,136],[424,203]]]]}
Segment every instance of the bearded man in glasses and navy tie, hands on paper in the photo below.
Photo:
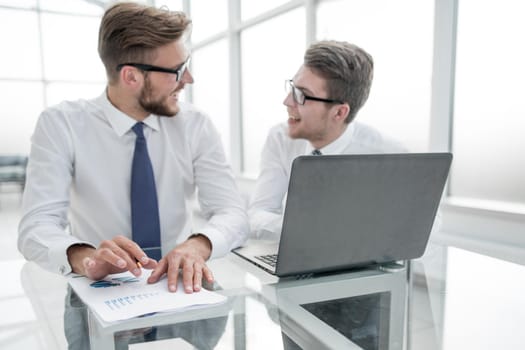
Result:
{"type": "Polygon", "coordinates": [[[105,12],[106,90],[48,108],[32,136],[18,241],[26,259],[92,279],[138,276],[143,266],[150,283],[167,275],[171,291],[182,270],[192,293],[213,281],[206,260],[244,241],[247,216],[219,135],[179,101],[193,83],[190,28],[182,12],[135,3],[105,12]],[[197,189],[207,222],[193,231],[197,189]],[[136,231],[153,243],[139,243],[136,231]]]}

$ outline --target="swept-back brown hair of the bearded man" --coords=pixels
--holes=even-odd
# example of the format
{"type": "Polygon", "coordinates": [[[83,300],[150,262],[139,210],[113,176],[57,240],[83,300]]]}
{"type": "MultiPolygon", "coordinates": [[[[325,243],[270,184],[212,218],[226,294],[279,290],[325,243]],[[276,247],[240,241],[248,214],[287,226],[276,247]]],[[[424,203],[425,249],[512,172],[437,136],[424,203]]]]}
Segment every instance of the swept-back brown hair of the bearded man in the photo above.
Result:
{"type": "Polygon", "coordinates": [[[98,54],[109,82],[118,79],[118,64],[148,63],[156,48],[180,39],[190,29],[191,20],[184,12],[132,2],[111,6],[102,17],[98,35],[98,54]]]}

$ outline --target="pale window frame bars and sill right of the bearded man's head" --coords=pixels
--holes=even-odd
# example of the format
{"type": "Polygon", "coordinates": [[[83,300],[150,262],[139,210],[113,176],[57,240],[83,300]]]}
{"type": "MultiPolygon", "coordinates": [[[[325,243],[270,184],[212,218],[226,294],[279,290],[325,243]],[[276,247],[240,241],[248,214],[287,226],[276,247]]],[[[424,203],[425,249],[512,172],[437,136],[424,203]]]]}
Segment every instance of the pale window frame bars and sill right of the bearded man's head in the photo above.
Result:
{"type": "MultiPolygon", "coordinates": [[[[277,8],[241,21],[240,0],[229,0],[228,28],[200,42],[193,43],[193,50],[223,38],[229,41],[230,54],[230,148],[232,167],[242,184],[251,189],[254,178],[243,173],[242,135],[242,86],[240,33],[246,28],[271,20],[298,7],[306,11],[306,43],[315,40],[316,8],[323,0],[292,0],[277,8]]],[[[459,0],[434,1],[434,43],[432,62],[432,88],[430,98],[429,151],[453,151],[452,133],[454,118],[455,57],[459,0]]],[[[189,10],[190,1],[184,0],[189,10]]],[[[191,94],[190,94],[191,96],[191,94]]],[[[442,233],[433,239],[446,240],[449,244],[491,253],[525,263],[525,209],[516,206],[488,203],[452,197],[448,187],[442,206],[442,233]],[[503,232],[501,228],[504,228],[503,232]],[[494,244],[496,242],[496,244],[494,244]],[[507,252],[503,254],[502,252],[507,252]],[[509,253],[510,252],[510,253],[509,253]]]]}

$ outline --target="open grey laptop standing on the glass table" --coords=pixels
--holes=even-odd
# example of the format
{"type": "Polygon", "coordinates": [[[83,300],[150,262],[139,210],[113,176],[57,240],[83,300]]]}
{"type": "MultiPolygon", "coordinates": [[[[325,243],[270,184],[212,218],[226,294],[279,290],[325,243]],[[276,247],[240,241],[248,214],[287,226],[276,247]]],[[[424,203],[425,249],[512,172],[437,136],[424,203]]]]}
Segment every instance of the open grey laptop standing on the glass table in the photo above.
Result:
{"type": "Polygon", "coordinates": [[[280,242],[233,252],[277,276],[418,258],[451,162],[451,153],[300,156],[280,242]]]}

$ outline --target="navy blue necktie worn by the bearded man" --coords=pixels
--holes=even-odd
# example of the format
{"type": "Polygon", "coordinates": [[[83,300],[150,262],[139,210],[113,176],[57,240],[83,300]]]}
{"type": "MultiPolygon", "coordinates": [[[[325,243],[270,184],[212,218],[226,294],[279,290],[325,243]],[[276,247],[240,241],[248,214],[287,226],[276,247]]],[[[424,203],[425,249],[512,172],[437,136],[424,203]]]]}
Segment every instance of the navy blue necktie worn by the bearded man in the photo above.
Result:
{"type": "Polygon", "coordinates": [[[157,189],[143,126],[143,123],[137,123],[132,128],[137,134],[131,165],[132,239],[150,258],[160,260],[162,252],[157,189]]]}

